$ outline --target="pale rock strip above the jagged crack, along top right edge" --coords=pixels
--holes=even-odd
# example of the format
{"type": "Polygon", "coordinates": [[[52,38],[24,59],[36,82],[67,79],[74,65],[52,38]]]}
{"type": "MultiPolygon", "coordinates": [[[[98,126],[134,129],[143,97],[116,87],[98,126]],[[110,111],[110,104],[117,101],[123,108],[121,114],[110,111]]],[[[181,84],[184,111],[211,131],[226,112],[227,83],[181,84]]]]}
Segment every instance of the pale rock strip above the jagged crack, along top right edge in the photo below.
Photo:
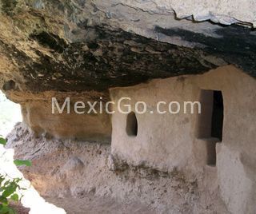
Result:
{"type": "Polygon", "coordinates": [[[237,22],[248,22],[255,26],[255,2],[251,1],[230,1],[218,0],[214,2],[200,0],[178,0],[162,1],[125,1],[123,5],[140,8],[149,11],[151,14],[170,14],[173,11],[178,18],[193,16],[196,21],[210,20],[216,23],[230,25],[237,22]]]}

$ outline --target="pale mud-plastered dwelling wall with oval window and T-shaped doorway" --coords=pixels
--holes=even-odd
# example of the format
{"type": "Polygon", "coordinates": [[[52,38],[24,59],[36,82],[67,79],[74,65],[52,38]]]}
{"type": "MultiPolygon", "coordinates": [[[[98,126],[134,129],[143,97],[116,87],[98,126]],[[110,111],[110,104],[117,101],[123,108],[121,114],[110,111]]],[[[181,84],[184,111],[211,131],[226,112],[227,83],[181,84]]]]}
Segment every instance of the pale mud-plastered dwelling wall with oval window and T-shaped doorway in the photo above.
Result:
{"type": "MultiPolygon", "coordinates": [[[[136,114],[137,137],[126,134],[126,114],[112,117],[112,154],[129,164],[147,164],[154,168],[178,168],[192,172],[216,171],[217,180],[205,180],[206,188],[218,183],[222,200],[232,213],[256,212],[256,84],[252,77],[234,66],[224,66],[197,76],[171,77],[148,84],[110,90],[116,103],[130,97],[129,104],[145,101],[145,114],[136,114]],[[224,99],[222,143],[217,144],[217,164],[206,164],[206,144],[198,139],[197,113],[151,114],[158,101],[199,101],[201,89],[221,90],[224,99]]],[[[128,104],[128,103],[126,103],[128,104]]],[[[162,110],[168,111],[168,107],[162,110]]],[[[117,105],[114,106],[116,110],[117,105]]],[[[134,109],[132,109],[134,111],[134,109]]]]}

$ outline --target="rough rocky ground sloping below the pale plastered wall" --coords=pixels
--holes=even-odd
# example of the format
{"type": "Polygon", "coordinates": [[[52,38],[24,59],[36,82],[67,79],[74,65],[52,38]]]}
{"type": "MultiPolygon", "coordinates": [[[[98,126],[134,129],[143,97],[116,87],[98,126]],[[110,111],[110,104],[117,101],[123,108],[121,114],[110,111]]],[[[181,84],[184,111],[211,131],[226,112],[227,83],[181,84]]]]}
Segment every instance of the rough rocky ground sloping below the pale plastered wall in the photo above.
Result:
{"type": "Polygon", "coordinates": [[[202,191],[199,176],[127,165],[113,171],[109,144],[35,138],[20,123],[7,147],[32,161],[23,174],[68,213],[227,213],[217,188],[202,191]]]}

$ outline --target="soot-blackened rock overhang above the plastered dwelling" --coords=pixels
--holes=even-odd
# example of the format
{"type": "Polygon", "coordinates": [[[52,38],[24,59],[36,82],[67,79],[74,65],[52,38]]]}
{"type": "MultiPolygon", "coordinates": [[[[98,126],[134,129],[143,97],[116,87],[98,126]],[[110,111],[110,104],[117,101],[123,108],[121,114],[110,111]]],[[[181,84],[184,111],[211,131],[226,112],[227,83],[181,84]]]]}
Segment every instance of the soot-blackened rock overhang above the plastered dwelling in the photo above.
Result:
{"type": "Polygon", "coordinates": [[[15,2],[2,4],[4,90],[107,91],[228,64],[256,76],[256,33],[244,26],[177,20],[123,3],[15,2]]]}

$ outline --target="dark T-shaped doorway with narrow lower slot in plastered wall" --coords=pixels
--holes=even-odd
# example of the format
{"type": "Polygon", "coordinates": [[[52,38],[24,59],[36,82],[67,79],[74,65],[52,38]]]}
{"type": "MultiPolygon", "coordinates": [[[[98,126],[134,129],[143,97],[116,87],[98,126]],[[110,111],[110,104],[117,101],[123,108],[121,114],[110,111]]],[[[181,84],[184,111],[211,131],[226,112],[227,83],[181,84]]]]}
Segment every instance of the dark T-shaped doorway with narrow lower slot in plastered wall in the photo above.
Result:
{"type": "Polygon", "coordinates": [[[216,164],[216,143],[222,141],[224,105],[222,92],[218,90],[202,90],[202,113],[199,116],[198,137],[205,139],[207,164],[216,164]]]}

